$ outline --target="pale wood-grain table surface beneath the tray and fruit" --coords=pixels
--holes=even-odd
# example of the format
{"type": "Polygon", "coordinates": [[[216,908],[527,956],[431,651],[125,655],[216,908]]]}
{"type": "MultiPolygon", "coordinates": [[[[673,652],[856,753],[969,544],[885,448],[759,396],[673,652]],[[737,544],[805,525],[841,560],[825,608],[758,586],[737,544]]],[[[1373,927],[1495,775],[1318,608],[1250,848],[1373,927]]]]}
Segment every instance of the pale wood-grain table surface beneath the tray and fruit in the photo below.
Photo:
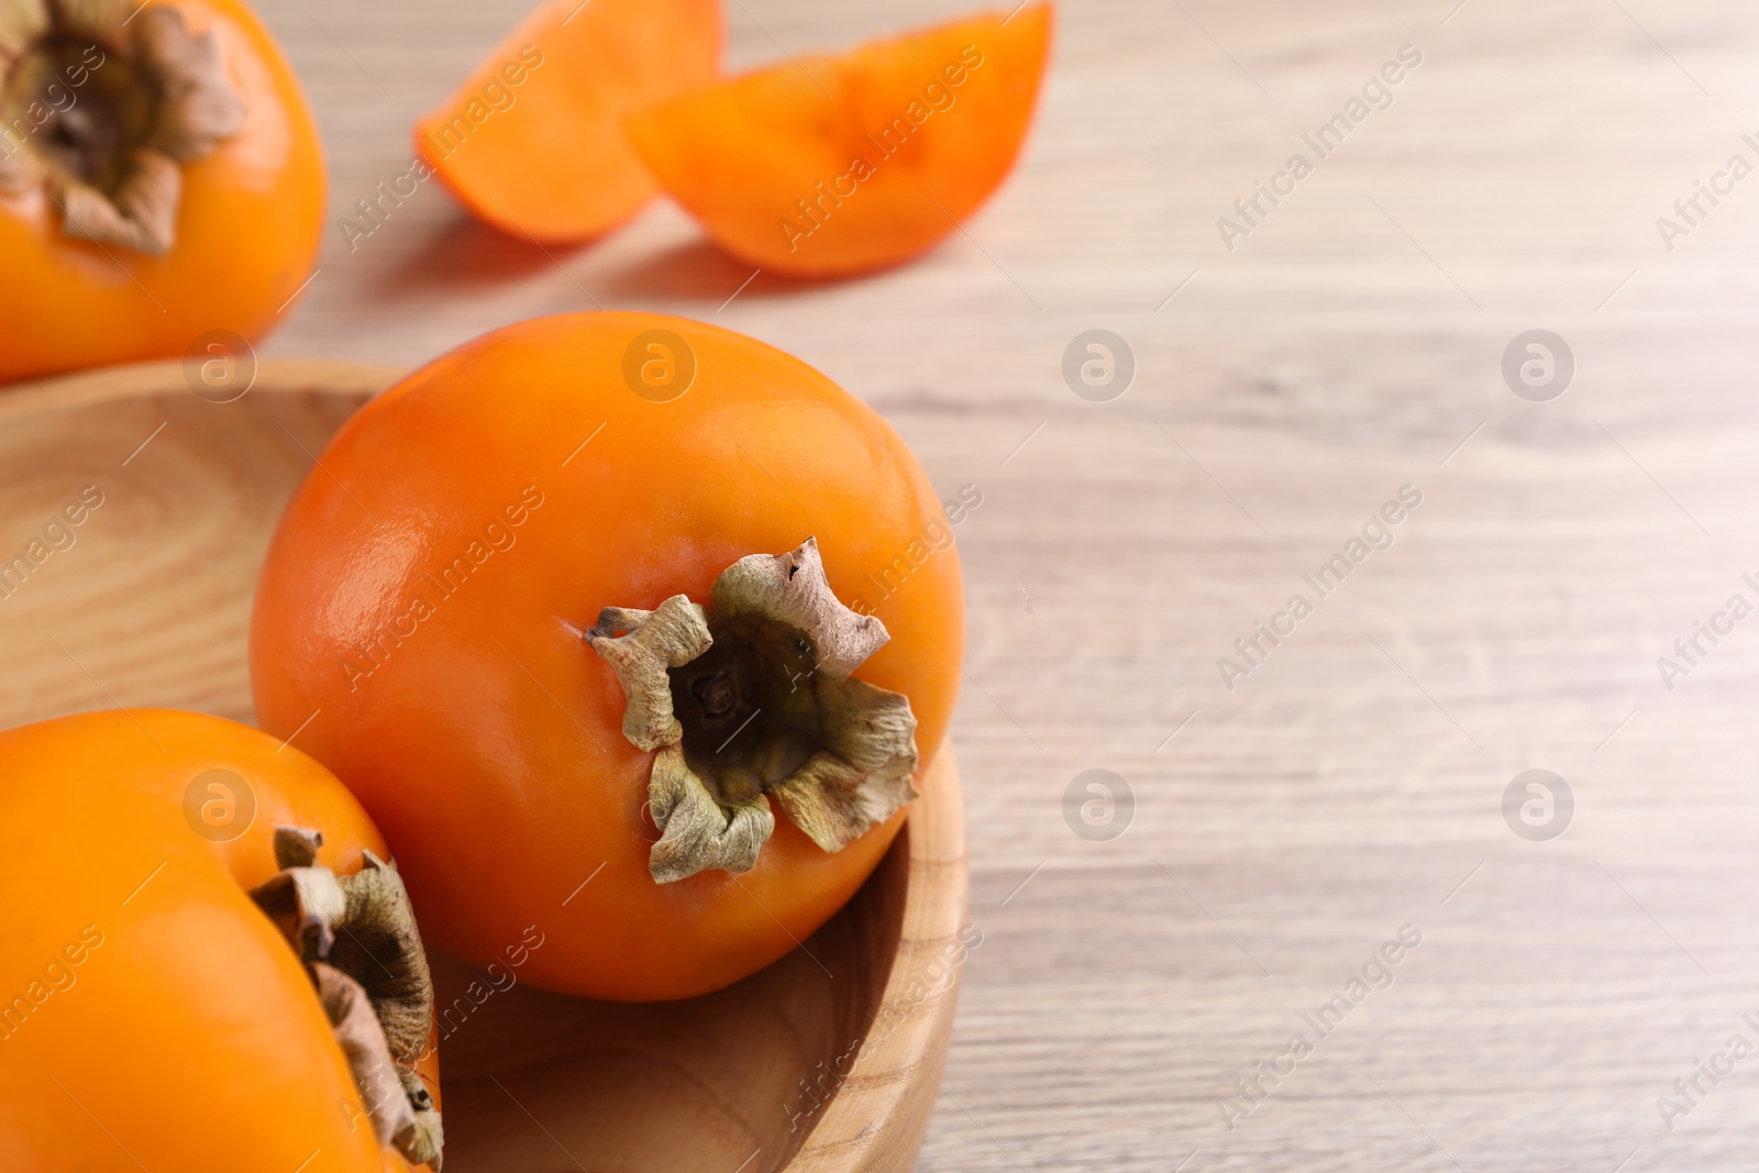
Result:
{"type": "MultiPolygon", "coordinates": [[[[1455,4],[1064,4],[1022,165],[966,232],[732,297],[749,269],[663,202],[551,255],[429,185],[350,251],[334,222],[521,5],[260,0],[332,185],[267,352],[415,364],[540,313],[709,318],[982,492],[955,739],[983,944],[922,1169],[1752,1166],[1759,1057],[1727,1046],[1759,1046],[1759,619],[1671,689],[1657,658],[1759,601],[1759,178],[1717,179],[1671,250],[1657,218],[1759,162],[1759,11],[1455,4]],[[1302,135],[1402,46],[1393,104],[1230,250],[1217,218],[1314,162],[1302,135]],[[1096,327],[1136,359],[1108,403],[1061,375],[1096,327]],[[1530,329],[1576,359],[1548,403],[1500,373],[1530,329]],[[1303,573],[1402,485],[1393,545],[1317,598],[1303,573]],[[1296,593],[1312,614],[1230,689],[1217,658],[1296,593]],[[1092,769],[1135,797],[1106,841],[1064,818],[1092,769]],[[1504,820],[1529,769],[1574,797],[1557,839],[1504,820]],[[1303,1011],[1333,995],[1321,1036],[1303,1011]],[[1244,1076],[1265,1092],[1230,1129],[1244,1076]]],[[[726,7],[735,67],[960,11],[726,7]]]]}

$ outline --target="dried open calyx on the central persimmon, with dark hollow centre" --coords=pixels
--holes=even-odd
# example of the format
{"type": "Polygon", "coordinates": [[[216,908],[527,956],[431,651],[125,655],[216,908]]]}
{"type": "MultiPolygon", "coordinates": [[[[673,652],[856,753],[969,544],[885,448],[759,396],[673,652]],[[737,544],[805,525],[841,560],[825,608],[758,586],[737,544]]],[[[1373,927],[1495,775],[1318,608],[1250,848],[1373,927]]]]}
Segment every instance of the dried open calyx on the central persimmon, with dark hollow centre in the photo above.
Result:
{"type": "Polygon", "coordinates": [[[765,795],[825,851],[916,797],[909,698],[850,677],[888,638],[830,591],[813,538],[741,557],[707,610],[600,612],[588,640],[628,698],[623,735],[658,751],[654,881],[749,871],[776,827],[765,795]]]}

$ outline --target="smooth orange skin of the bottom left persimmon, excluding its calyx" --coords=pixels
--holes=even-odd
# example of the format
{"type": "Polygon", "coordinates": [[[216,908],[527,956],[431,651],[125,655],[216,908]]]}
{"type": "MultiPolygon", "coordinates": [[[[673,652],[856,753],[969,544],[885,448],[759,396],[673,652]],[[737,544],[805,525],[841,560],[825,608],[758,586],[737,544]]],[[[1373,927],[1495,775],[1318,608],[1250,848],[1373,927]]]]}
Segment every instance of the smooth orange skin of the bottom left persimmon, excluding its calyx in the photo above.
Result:
{"type": "MultiPolygon", "coordinates": [[[[0,934],[0,1169],[288,1173],[318,1148],[313,1168],[408,1171],[355,1115],[311,981],[246,895],[276,871],[276,825],[324,830],[318,862],[336,872],[385,853],[341,783],[278,746],[164,709],[0,733],[0,892],[14,897],[0,934]],[[255,793],[230,842],[185,818],[185,790],[215,769],[255,793]]],[[[436,1075],[426,1060],[438,1092],[436,1075]]]]}

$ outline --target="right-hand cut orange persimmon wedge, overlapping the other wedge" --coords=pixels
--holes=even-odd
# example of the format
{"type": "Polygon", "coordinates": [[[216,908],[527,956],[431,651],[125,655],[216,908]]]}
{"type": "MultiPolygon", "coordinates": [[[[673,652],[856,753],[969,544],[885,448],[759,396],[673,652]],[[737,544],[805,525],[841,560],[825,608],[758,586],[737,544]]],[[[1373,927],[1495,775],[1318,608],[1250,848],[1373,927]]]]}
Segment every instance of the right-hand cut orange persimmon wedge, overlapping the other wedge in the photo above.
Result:
{"type": "Polygon", "coordinates": [[[843,56],[700,86],[630,116],[630,137],[726,251],[839,276],[953,232],[1013,169],[1052,7],[976,16],[843,56]]]}

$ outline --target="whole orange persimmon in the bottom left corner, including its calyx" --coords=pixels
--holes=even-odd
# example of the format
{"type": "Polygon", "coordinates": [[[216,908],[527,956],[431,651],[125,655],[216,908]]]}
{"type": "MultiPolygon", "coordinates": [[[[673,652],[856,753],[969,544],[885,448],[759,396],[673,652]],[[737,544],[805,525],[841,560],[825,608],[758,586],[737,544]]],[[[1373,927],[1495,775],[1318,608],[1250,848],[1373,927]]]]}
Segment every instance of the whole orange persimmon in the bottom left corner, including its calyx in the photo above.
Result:
{"type": "Polygon", "coordinates": [[[438,1168],[420,934],[334,776],[134,709],[0,733],[0,1168],[438,1168]]]}

